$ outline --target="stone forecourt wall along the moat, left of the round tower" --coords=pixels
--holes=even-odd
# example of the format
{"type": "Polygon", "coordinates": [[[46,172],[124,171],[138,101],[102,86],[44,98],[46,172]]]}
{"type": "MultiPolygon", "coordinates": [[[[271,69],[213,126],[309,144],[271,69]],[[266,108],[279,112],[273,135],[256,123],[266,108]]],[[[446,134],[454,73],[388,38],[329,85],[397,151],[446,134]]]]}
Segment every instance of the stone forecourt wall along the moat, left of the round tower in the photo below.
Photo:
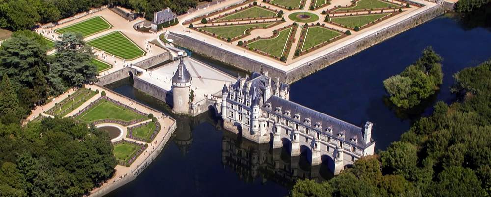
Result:
{"type": "Polygon", "coordinates": [[[164,101],[169,105],[173,104],[172,92],[167,92],[159,86],[150,84],[147,81],[138,78],[137,76],[133,78],[133,87],[149,94],[150,96],[153,96],[156,99],[164,101]]]}

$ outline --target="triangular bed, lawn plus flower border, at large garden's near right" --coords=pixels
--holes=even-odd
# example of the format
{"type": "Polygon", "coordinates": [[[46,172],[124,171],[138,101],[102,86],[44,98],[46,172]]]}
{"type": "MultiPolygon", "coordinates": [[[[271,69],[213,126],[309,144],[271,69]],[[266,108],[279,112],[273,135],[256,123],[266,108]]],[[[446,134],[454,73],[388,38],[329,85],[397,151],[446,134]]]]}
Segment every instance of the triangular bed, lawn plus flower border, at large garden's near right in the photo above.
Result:
{"type": "Polygon", "coordinates": [[[293,58],[310,53],[346,36],[348,35],[340,30],[324,27],[324,24],[304,26],[293,58]]]}

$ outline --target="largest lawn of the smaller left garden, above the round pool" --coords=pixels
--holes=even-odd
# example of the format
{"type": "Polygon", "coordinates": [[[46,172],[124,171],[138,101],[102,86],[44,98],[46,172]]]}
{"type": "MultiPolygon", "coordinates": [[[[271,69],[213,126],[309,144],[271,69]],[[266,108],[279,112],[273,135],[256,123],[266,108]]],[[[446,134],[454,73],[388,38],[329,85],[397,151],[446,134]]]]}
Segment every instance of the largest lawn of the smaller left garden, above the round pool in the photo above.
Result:
{"type": "Polygon", "coordinates": [[[129,109],[118,106],[113,102],[102,99],[94,107],[80,114],[77,118],[85,122],[93,122],[103,119],[122,120],[128,122],[146,117],[129,109]]]}

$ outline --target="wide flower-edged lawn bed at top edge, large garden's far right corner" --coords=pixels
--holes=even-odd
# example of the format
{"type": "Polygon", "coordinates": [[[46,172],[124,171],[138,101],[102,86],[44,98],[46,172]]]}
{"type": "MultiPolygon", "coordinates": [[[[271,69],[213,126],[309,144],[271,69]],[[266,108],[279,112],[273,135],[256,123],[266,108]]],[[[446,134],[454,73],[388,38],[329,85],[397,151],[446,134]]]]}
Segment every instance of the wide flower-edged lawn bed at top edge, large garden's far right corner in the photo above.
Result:
{"type": "Polygon", "coordinates": [[[328,12],[355,12],[355,11],[368,11],[368,10],[381,10],[381,9],[393,9],[401,8],[403,5],[392,3],[385,0],[354,0],[352,4],[347,7],[335,7],[328,12]]]}

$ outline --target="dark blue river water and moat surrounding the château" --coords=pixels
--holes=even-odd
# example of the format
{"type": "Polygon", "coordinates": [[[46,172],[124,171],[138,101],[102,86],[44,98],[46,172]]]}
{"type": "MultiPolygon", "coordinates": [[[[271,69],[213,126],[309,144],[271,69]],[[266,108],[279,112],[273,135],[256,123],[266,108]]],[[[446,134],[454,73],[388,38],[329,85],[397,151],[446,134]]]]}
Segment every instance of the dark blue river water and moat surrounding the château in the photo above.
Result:
{"type": "MultiPolygon", "coordinates": [[[[491,27],[487,14],[436,18],[291,84],[290,100],[360,125],[374,123],[372,138],[384,150],[436,101],[451,103],[452,75],[491,57],[491,27]],[[472,22],[472,23],[470,23],[472,22]],[[388,104],[382,81],[416,61],[426,46],[443,61],[444,79],[437,94],[411,111],[388,104]]],[[[236,75],[238,71],[206,61],[236,75]]],[[[240,73],[243,75],[244,73],[240,73]]],[[[168,113],[169,107],[122,80],[108,87],[168,113]]],[[[317,181],[332,177],[326,166],[310,167],[303,156],[238,139],[221,129],[214,114],[175,117],[178,127],[164,151],[134,181],[106,197],[283,197],[297,178],[317,181]]]]}

